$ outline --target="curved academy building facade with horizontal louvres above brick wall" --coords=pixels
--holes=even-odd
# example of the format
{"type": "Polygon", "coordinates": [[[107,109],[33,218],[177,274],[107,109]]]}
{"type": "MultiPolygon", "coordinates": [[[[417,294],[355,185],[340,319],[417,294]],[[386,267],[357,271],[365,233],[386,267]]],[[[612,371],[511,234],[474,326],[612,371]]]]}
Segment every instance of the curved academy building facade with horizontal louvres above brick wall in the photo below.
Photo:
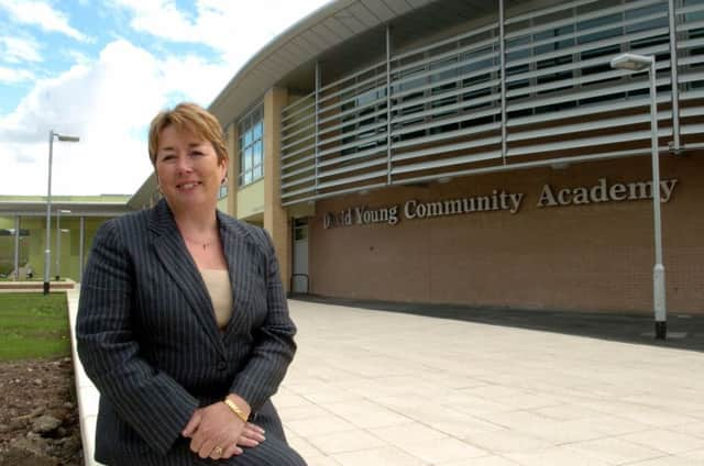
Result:
{"type": "Polygon", "coordinates": [[[228,210],[294,291],[651,312],[650,75],[668,308],[704,312],[704,1],[334,1],[210,110],[228,210]],[[672,66],[675,63],[676,66],[672,66]]]}

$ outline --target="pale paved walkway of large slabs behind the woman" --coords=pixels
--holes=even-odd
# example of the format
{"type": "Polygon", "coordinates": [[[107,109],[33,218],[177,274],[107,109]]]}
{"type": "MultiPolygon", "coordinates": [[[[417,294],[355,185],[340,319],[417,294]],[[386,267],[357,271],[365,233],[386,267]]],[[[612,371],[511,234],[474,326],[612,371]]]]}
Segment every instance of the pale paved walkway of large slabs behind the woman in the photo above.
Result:
{"type": "Polygon", "coordinates": [[[704,465],[701,352],[289,306],[299,351],[274,402],[310,466],[704,465]]]}

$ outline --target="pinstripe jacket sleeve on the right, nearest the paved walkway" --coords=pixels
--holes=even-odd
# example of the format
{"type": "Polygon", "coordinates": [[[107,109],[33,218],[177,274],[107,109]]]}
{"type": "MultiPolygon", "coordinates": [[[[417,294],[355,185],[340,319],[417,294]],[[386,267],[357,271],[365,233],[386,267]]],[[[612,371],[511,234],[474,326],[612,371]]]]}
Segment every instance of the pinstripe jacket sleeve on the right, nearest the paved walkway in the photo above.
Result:
{"type": "Polygon", "coordinates": [[[288,314],[274,245],[264,230],[257,231],[265,242],[266,318],[261,328],[254,329],[250,359],[230,388],[250,403],[252,412],[276,392],[296,353],[296,326],[288,314]]]}

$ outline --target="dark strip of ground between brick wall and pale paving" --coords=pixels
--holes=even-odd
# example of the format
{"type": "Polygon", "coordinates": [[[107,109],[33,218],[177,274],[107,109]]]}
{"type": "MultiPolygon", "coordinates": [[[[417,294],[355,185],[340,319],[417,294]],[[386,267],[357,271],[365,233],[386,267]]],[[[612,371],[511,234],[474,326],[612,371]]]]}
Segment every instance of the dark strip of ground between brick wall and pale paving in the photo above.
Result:
{"type": "Polygon", "coordinates": [[[290,295],[292,299],[369,310],[402,312],[490,325],[556,332],[624,343],[704,352],[704,314],[668,313],[668,339],[654,339],[654,321],[645,314],[472,308],[290,295]]]}

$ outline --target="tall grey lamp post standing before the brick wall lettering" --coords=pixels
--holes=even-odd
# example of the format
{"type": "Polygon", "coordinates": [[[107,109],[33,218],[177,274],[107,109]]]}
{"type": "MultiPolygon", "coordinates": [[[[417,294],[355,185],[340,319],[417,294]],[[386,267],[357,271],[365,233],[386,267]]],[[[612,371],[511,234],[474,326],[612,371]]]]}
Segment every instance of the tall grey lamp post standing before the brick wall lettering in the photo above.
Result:
{"type": "Polygon", "coordinates": [[[654,55],[622,54],[612,59],[612,68],[632,73],[648,70],[650,80],[650,159],[652,162],[652,214],[654,222],[656,264],[652,267],[652,298],[656,314],[656,339],[666,340],[668,319],[664,300],[664,266],[662,265],[662,231],[660,221],[660,159],[658,144],[658,97],[654,55]]]}

